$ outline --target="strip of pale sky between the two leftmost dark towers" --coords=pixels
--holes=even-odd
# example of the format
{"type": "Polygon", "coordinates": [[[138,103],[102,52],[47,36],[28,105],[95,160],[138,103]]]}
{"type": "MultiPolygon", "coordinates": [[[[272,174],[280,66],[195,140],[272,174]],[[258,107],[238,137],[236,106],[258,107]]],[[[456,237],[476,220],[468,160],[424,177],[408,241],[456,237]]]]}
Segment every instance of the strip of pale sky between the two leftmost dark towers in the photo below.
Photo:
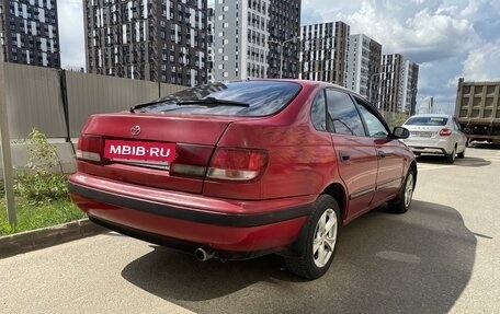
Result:
{"type": "Polygon", "coordinates": [[[83,9],[80,0],[57,1],[61,66],[86,67],[83,9]]]}

